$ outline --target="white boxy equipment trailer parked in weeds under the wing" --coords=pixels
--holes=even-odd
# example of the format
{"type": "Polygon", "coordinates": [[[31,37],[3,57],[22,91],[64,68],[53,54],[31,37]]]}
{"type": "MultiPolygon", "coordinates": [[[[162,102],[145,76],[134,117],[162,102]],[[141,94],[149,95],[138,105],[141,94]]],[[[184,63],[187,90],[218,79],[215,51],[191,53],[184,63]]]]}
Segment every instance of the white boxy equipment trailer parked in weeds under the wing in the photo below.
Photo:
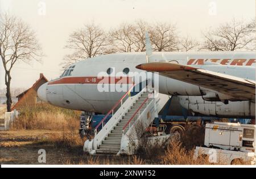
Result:
{"type": "Polygon", "coordinates": [[[208,156],[210,163],[233,164],[242,160],[256,163],[255,125],[214,122],[205,126],[205,147],[196,147],[194,159],[208,156]]]}

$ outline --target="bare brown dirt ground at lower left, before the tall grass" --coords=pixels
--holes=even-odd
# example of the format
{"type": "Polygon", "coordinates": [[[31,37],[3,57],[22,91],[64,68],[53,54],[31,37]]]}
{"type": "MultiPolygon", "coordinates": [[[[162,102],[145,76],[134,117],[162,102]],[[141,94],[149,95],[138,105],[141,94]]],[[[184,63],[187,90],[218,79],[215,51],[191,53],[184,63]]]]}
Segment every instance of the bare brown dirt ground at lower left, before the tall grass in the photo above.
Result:
{"type": "Polygon", "coordinates": [[[42,142],[52,134],[51,130],[0,131],[1,164],[39,164],[38,150],[46,150],[46,164],[66,164],[67,161],[79,160],[82,154],[74,154],[65,148],[56,148],[53,144],[42,142]]]}

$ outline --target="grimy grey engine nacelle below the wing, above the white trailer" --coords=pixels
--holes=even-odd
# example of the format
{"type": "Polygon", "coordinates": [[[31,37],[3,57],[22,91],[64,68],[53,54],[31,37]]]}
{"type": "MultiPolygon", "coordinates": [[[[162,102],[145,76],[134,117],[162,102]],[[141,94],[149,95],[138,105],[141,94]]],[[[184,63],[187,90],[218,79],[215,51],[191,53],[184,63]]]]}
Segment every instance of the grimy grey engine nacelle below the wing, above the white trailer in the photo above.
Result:
{"type": "Polygon", "coordinates": [[[230,118],[255,118],[255,103],[251,101],[206,101],[201,96],[178,96],[183,108],[207,116],[230,118]]]}

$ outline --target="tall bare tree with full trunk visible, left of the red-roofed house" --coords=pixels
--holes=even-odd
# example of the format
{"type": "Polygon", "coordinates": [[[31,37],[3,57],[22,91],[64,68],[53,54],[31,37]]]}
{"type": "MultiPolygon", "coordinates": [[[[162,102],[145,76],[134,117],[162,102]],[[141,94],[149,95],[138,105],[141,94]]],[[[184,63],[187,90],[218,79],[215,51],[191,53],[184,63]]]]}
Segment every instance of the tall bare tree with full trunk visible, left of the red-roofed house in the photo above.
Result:
{"type": "Polygon", "coordinates": [[[0,57],[5,69],[7,111],[11,111],[11,70],[16,62],[26,63],[42,56],[35,32],[30,27],[9,14],[0,15],[0,57]]]}

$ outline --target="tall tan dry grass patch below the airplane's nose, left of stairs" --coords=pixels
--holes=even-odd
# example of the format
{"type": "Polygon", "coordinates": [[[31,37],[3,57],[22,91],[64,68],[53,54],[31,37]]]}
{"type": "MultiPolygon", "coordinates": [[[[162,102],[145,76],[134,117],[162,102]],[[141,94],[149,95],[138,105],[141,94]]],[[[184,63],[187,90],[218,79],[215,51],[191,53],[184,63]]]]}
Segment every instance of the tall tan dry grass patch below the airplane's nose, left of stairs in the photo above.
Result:
{"type": "Polygon", "coordinates": [[[54,130],[52,134],[41,139],[39,143],[52,143],[58,148],[82,148],[84,141],[79,135],[80,112],[63,109],[50,104],[38,104],[34,107],[20,109],[20,115],[11,125],[11,130],[54,130]]]}

